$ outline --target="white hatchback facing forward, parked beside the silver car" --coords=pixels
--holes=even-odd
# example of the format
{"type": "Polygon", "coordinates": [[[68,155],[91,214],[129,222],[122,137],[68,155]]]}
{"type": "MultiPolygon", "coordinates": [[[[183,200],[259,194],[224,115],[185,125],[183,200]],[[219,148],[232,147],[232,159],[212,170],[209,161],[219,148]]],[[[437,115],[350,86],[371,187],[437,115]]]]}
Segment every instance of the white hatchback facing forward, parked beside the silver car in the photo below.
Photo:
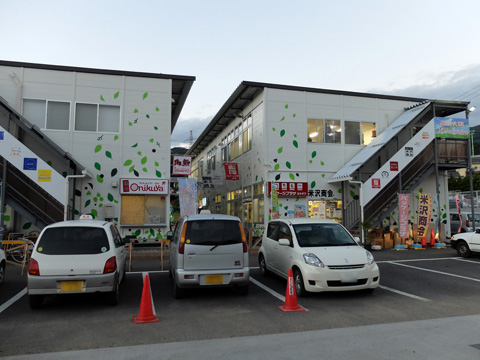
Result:
{"type": "Polygon", "coordinates": [[[282,219],[268,223],[258,262],[260,272],[287,278],[291,268],[298,296],[308,292],[378,287],[373,255],[339,223],[323,219],[282,219]]]}

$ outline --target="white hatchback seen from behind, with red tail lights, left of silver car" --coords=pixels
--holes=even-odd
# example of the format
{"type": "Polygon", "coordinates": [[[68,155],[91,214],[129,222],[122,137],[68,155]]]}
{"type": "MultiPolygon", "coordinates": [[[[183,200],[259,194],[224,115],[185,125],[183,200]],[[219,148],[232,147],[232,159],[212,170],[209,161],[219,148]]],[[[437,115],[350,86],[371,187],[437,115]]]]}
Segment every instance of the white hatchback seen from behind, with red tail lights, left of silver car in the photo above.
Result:
{"type": "Polygon", "coordinates": [[[93,292],[106,293],[116,305],[125,260],[124,242],[111,222],[87,217],[48,225],[28,268],[30,307],[40,307],[45,295],[93,292]]]}

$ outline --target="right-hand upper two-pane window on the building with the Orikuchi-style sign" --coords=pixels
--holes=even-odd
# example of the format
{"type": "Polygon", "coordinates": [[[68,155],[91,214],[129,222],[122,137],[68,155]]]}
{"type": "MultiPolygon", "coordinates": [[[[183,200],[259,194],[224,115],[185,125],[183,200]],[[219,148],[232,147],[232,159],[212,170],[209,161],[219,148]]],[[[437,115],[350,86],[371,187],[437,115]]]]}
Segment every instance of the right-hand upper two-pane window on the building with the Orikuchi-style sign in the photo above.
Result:
{"type": "Polygon", "coordinates": [[[120,106],[77,103],[75,106],[75,130],[118,133],[120,131],[120,106]]]}

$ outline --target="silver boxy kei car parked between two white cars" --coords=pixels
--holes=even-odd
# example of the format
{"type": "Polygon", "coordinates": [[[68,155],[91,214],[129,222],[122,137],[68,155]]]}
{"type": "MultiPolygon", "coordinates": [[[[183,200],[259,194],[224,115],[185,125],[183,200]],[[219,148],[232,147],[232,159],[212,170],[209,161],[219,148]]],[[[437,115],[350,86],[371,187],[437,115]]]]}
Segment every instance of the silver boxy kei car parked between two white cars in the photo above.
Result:
{"type": "Polygon", "coordinates": [[[233,286],[248,293],[248,249],[238,217],[205,211],[186,216],[168,238],[175,298],[199,287],[233,286]]]}

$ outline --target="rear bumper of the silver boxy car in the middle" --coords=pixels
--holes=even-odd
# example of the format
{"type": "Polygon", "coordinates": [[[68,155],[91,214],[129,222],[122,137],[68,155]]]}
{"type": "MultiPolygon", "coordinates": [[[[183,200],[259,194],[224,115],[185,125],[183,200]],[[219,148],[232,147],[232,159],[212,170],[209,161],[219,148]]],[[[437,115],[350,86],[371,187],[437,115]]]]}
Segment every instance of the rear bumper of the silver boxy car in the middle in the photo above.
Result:
{"type": "Polygon", "coordinates": [[[222,270],[183,270],[174,271],[175,282],[180,288],[216,287],[216,286],[244,286],[250,278],[250,269],[222,269],[222,270]],[[221,275],[221,282],[218,280],[221,275]],[[209,276],[216,279],[209,281],[209,276]]]}

